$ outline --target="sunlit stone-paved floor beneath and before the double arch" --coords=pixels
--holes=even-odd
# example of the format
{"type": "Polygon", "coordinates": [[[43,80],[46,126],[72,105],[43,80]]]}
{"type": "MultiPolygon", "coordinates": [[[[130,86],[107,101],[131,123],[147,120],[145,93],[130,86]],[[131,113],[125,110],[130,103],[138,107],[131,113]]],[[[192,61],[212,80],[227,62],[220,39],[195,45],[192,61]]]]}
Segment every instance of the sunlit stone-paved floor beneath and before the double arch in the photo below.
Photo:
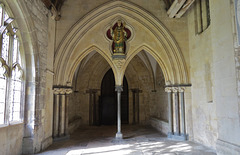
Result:
{"type": "Polygon", "coordinates": [[[194,142],[168,140],[151,127],[123,126],[124,139],[115,140],[115,126],[81,127],[69,140],[54,142],[38,155],[215,155],[194,142]]]}

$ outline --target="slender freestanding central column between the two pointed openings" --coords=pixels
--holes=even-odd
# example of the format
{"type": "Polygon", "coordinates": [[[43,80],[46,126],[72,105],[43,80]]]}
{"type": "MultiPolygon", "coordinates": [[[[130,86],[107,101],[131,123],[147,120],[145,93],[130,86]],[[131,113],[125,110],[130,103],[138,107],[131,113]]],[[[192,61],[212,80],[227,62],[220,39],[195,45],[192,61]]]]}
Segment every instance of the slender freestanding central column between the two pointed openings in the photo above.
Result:
{"type": "Polygon", "coordinates": [[[117,133],[116,138],[122,139],[123,135],[121,133],[121,92],[123,91],[122,86],[116,86],[115,91],[117,91],[117,133]]]}

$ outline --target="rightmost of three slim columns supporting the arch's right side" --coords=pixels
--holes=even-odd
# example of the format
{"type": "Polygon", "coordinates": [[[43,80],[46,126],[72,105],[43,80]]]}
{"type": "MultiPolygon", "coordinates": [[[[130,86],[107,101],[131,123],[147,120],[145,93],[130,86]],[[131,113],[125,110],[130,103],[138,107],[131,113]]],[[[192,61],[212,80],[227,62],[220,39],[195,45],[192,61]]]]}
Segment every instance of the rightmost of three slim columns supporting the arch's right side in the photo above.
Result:
{"type": "Polygon", "coordinates": [[[179,87],[179,97],[180,97],[180,112],[181,112],[181,135],[186,136],[186,129],[185,129],[185,101],[184,101],[184,87],[179,87]]]}

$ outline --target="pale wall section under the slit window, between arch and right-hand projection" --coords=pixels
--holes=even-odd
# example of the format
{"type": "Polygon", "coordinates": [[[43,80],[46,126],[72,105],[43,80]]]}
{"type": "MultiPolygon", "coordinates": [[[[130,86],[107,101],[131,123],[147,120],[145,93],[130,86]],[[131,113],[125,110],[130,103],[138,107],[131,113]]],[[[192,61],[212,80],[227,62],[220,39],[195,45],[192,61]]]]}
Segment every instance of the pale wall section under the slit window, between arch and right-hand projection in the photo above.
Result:
{"type": "Polygon", "coordinates": [[[194,140],[215,148],[217,140],[216,101],[213,100],[212,24],[196,33],[195,5],[189,10],[189,55],[192,82],[192,120],[194,140]]]}

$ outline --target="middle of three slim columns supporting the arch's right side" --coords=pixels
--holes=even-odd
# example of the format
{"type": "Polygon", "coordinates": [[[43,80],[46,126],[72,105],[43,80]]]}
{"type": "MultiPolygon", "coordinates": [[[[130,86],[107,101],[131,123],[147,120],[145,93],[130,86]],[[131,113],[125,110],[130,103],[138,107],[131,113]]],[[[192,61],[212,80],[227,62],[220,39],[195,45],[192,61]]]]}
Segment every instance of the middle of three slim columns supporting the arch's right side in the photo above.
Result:
{"type": "Polygon", "coordinates": [[[173,88],[174,100],[175,100],[175,132],[174,135],[180,135],[180,120],[179,120],[179,98],[178,98],[178,88],[173,88]]]}

